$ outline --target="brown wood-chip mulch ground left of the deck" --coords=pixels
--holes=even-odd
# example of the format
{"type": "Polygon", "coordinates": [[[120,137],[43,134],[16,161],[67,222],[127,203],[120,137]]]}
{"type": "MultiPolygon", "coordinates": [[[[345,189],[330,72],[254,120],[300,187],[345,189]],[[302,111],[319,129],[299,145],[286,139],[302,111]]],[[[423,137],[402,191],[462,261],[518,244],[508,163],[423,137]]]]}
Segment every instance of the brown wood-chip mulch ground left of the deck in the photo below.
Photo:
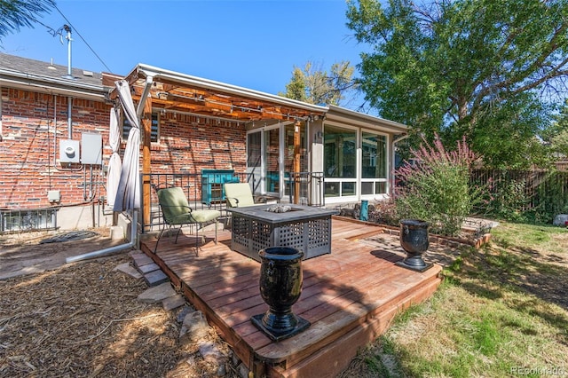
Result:
{"type": "MultiPolygon", "coordinates": [[[[217,376],[196,345],[178,342],[177,311],[138,302],[144,280],[114,271],[126,262],[123,253],[0,280],[0,376],[217,376]]],[[[213,330],[210,339],[230,356],[213,330]]]]}

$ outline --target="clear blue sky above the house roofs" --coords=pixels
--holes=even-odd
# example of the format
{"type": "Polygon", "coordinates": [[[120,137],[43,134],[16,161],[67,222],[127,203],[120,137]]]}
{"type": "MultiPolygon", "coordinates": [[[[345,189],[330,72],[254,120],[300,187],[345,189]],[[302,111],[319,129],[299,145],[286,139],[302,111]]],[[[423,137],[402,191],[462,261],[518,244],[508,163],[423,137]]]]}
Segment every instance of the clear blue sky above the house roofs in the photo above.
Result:
{"type": "MultiPolygon", "coordinates": [[[[354,66],[366,47],[345,26],[344,0],[59,0],[57,7],[63,15],[54,9],[40,21],[54,30],[71,24],[73,66],[108,71],[88,43],[119,75],[146,63],[276,94],[294,66],[354,66]]],[[[0,50],[67,65],[63,42],[36,25],[4,37],[0,50]]]]}

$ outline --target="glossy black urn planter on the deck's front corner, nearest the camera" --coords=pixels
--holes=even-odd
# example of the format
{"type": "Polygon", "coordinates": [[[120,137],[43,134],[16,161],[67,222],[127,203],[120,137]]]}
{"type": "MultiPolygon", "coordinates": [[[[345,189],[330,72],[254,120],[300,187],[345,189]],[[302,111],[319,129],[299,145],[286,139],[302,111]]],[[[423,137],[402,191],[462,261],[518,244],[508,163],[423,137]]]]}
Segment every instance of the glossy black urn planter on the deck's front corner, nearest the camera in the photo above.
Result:
{"type": "Polygon", "coordinates": [[[310,322],[292,312],[292,305],[302,294],[302,257],[296,248],[264,248],[261,258],[260,295],[268,304],[264,314],[254,315],[250,321],[272,340],[280,341],[297,335],[310,327],[310,322]]]}

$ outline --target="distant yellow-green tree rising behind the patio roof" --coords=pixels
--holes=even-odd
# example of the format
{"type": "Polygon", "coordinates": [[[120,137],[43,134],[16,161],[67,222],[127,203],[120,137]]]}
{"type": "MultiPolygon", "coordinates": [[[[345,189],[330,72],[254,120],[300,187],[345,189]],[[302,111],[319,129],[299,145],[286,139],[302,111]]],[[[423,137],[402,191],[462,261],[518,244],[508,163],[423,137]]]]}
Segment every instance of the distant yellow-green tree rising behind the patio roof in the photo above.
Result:
{"type": "Polygon", "coordinates": [[[357,86],[353,72],[348,61],[334,63],[329,73],[308,61],[304,68],[294,67],[286,93],[280,96],[317,105],[340,105],[357,86]]]}

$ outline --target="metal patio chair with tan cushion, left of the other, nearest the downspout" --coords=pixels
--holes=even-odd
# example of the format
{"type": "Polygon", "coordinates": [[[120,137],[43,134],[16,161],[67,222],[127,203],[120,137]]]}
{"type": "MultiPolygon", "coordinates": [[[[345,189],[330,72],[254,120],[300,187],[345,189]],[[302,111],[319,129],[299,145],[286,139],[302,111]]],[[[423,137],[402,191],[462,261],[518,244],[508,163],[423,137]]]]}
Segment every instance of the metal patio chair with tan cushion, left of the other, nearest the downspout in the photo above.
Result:
{"type": "MultiPolygon", "coordinates": [[[[219,211],[193,210],[189,207],[187,198],[185,198],[185,193],[180,187],[160,189],[158,191],[158,201],[160,203],[160,208],[162,209],[164,224],[168,225],[168,232],[170,232],[172,228],[179,226],[174,243],[177,243],[177,237],[184,225],[195,225],[195,255],[198,255],[199,229],[205,224],[215,222],[215,244],[217,244],[217,219],[221,216],[219,211]]],[[[158,236],[158,240],[156,241],[154,253],[156,253],[156,250],[158,249],[158,243],[160,242],[165,230],[166,227],[164,226],[158,236]]],[[[203,242],[205,242],[205,236],[202,235],[201,238],[203,239],[203,242]]]]}

